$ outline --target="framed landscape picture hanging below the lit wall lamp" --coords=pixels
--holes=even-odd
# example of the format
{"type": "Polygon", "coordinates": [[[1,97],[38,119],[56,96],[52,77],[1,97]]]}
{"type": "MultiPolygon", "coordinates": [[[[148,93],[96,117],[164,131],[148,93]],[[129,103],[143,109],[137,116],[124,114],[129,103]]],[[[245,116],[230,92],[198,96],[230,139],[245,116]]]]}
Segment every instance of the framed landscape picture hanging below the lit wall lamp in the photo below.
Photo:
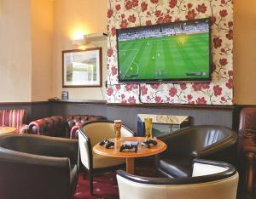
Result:
{"type": "Polygon", "coordinates": [[[102,87],[102,48],[62,51],[62,87],[102,87]]]}

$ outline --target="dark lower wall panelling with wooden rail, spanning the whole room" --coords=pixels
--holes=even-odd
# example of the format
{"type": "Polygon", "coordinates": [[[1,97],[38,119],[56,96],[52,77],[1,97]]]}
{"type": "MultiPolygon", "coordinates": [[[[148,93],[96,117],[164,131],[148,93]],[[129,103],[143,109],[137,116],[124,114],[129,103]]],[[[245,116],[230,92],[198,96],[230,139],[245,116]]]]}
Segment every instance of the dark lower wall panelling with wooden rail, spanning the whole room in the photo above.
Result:
{"type": "Polygon", "coordinates": [[[27,122],[53,115],[87,114],[121,119],[137,131],[137,114],[189,116],[191,125],[216,124],[237,129],[242,108],[255,105],[119,105],[104,100],[49,100],[42,102],[0,103],[2,109],[26,109],[27,122]]]}

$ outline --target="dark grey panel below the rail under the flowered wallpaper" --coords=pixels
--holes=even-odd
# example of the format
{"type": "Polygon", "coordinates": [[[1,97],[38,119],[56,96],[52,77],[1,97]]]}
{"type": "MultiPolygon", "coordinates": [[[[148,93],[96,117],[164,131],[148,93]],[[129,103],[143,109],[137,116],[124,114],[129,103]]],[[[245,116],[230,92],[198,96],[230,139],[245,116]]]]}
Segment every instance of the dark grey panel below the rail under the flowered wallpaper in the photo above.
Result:
{"type": "Polygon", "coordinates": [[[107,117],[111,120],[121,119],[133,130],[137,130],[137,114],[162,114],[189,116],[191,125],[216,124],[232,128],[233,110],[204,110],[196,108],[124,107],[107,105],[107,117]]]}

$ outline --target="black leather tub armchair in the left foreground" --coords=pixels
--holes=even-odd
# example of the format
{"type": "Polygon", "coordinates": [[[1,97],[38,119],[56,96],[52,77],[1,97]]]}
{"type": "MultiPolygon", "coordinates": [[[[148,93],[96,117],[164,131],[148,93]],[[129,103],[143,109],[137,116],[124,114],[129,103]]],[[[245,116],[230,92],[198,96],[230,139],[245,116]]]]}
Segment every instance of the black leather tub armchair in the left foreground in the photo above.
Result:
{"type": "Polygon", "coordinates": [[[75,139],[32,134],[0,136],[0,198],[73,198],[78,151],[75,139]]]}

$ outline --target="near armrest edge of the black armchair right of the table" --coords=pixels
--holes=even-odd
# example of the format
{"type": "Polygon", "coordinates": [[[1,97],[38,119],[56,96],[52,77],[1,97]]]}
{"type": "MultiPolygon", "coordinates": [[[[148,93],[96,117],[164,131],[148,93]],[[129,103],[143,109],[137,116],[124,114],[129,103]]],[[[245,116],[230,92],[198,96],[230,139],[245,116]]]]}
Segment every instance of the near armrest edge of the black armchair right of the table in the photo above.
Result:
{"type": "Polygon", "coordinates": [[[211,156],[213,153],[218,151],[223,151],[224,149],[230,148],[232,145],[236,144],[237,135],[235,135],[235,137],[236,138],[230,137],[228,139],[218,141],[202,150],[192,151],[191,156],[192,158],[204,158],[206,156],[211,156]]]}

